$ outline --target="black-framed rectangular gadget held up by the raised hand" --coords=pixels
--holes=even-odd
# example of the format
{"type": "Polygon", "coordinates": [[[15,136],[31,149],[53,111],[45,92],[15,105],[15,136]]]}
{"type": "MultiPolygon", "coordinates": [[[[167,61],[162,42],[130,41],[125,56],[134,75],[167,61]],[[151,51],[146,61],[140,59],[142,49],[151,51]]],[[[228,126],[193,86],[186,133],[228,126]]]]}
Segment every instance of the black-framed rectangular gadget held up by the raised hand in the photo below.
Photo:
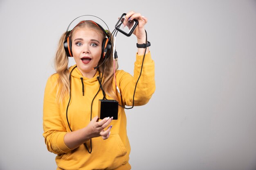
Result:
{"type": "Polygon", "coordinates": [[[130,37],[130,35],[132,35],[133,31],[135,30],[136,26],[138,25],[138,21],[135,20],[135,19],[130,20],[130,21],[128,21],[126,26],[124,26],[123,22],[124,22],[124,19],[125,19],[125,15],[126,15],[126,13],[122,14],[122,16],[119,18],[115,28],[120,33],[123,33],[127,37],[130,37]]]}

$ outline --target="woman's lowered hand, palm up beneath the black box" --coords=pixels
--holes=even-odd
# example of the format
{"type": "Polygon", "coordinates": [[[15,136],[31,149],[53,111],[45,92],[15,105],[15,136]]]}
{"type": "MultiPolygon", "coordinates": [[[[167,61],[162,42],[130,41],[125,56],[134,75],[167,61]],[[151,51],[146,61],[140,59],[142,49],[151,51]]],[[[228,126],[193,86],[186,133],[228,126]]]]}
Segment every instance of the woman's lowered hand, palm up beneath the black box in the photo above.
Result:
{"type": "Polygon", "coordinates": [[[112,126],[109,126],[106,131],[104,129],[110,124],[112,119],[113,117],[108,117],[98,122],[98,116],[94,117],[87,126],[88,131],[90,133],[90,137],[93,138],[101,136],[103,139],[108,139],[110,135],[110,129],[112,128],[112,126]]]}

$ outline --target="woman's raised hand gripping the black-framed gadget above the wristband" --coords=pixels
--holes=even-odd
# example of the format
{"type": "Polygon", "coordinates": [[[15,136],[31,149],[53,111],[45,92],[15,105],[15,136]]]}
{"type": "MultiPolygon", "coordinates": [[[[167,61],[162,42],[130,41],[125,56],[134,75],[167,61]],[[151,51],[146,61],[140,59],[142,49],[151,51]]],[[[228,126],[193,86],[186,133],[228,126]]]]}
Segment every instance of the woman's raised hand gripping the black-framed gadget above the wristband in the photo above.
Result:
{"type": "Polygon", "coordinates": [[[144,29],[144,25],[148,22],[147,18],[142,16],[140,13],[135,13],[134,11],[130,11],[126,14],[125,20],[124,20],[124,26],[128,23],[130,20],[136,19],[139,23],[138,26],[135,28],[133,31],[133,34],[136,35],[138,40],[143,40],[145,41],[146,39],[146,32],[144,29]]]}

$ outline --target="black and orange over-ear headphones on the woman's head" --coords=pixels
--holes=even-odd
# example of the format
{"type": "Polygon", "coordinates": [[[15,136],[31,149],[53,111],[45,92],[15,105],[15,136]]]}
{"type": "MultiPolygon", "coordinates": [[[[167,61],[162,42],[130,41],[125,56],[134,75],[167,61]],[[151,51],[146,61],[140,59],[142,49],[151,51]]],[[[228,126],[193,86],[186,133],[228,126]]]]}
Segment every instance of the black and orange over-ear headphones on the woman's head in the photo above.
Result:
{"type": "MultiPolygon", "coordinates": [[[[86,16],[86,15],[82,15],[82,16],[86,16]]],[[[90,15],[90,16],[93,16],[93,15],[90,15]]],[[[81,16],[80,16],[81,17],[81,16]]],[[[94,16],[95,17],[95,16],[94,16]]],[[[78,17],[77,17],[78,18],[78,17]]],[[[76,18],[76,19],[77,19],[76,18]]],[[[99,18],[99,17],[97,17],[99,18]]],[[[76,20],[75,19],[75,20],[76,20]]],[[[100,19],[100,18],[99,18],[100,19]]],[[[101,20],[101,19],[100,19],[101,20]]],[[[74,21],[74,20],[73,20],[74,21]]],[[[73,22],[72,21],[72,22],[73,22]]],[[[94,23],[95,25],[97,25],[101,31],[106,35],[107,38],[104,38],[103,41],[102,41],[102,51],[101,51],[101,57],[103,59],[105,58],[108,58],[110,56],[110,52],[111,52],[111,48],[112,48],[112,43],[111,43],[111,40],[110,40],[110,36],[108,35],[108,33],[104,30],[104,28],[97,24],[96,22],[92,21],[92,20],[84,20],[84,21],[81,21],[79,22],[76,26],[78,26],[79,24],[81,23],[84,23],[85,21],[90,21],[92,23],[94,23]]],[[[103,20],[102,20],[103,21],[103,20]]],[[[71,23],[72,23],[71,22],[71,23]]],[[[104,22],[104,21],[103,21],[104,22]]],[[[70,24],[71,24],[70,23],[70,24]]],[[[105,22],[104,22],[105,23],[105,22]]],[[[106,23],[105,23],[106,24],[106,23]]],[[[76,26],[74,28],[76,28],[76,26]]],[[[68,28],[70,27],[70,25],[67,27],[67,30],[68,28]]],[[[74,28],[72,30],[74,30],[74,28]]],[[[73,57],[73,54],[72,54],[72,41],[70,39],[70,33],[72,32],[71,31],[66,31],[66,38],[65,38],[65,41],[63,43],[63,46],[64,46],[64,49],[65,49],[65,52],[66,52],[66,55],[67,57],[73,57]]]]}

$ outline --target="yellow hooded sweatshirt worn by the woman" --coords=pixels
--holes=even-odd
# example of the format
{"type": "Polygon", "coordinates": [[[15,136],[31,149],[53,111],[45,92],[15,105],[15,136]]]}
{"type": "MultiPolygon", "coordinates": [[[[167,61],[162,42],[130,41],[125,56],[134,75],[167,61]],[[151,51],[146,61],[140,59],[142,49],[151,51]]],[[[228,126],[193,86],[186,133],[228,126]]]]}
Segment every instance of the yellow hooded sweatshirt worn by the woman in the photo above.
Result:
{"type": "MultiPolygon", "coordinates": [[[[118,102],[126,106],[132,105],[135,83],[139,77],[143,55],[136,56],[134,76],[123,70],[116,72],[117,86],[122,98],[118,95],[118,102]]],[[[75,65],[74,65],[75,66],[75,65]]],[[[74,66],[70,67],[70,71],[74,66]]],[[[77,68],[71,74],[71,101],[68,108],[68,121],[72,131],[82,129],[90,122],[91,103],[99,90],[97,80],[99,72],[93,78],[83,77],[77,68]],[[82,86],[82,81],[84,88],[82,86]],[[84,96],[83,96],[84,91],[84,96]]],[[[155,92],[155,68],[150,52],[146,54],[143,70],[135,93],[135,106],[145,105],[155,92]]],[[[119,106],[118,120],[112,120],[111,134],[106,140],[102,137],[92,138],[92,153],[88,153],[84,145],[71,150],[64,143],[64,135],[70,132],[67,124],[66,109],[69,97],[62,104],[56,102],[58,74],[49,77],[43,104],[43,136],[47,149],[57,154],[57,169],[65,170],[93,170],[116,169],[129,170],[130,144],[126,133],[126,115],[119,106]]],[[[113,80],[113,89],[116,89],[113,80]]],[[[92,104],[92,118],[98,115],[98,101],[103,98],[100,91],[92,104]]],[[[106,98],[110,98],[106,94],[106,98]]],[[[90,150],[90,140],[86,142],[90,150]]]]}

